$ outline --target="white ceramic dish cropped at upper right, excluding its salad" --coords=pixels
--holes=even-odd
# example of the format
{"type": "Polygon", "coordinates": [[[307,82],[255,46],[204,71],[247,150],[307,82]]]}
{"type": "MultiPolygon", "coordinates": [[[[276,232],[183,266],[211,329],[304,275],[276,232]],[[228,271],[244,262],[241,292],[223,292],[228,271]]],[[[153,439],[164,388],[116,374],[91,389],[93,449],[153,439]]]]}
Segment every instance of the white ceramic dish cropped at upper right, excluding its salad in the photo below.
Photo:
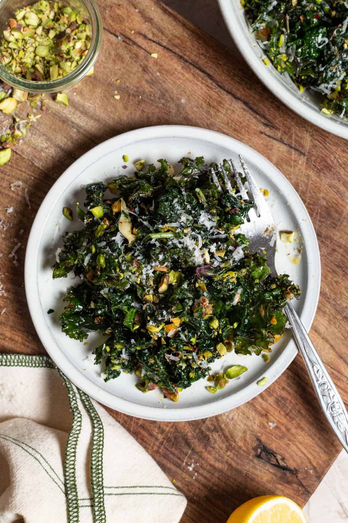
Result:
{"type": "Polygon", "coordinates": [[[337,115],[327,116],[320,111],[322,97],[307,89],[301,93],[287,74],[279,74],[273,65],[267,66],[262,62],[266,57],[251,33],[245,11],[240,0],[219,0],[220,9],[227,28],[244,59],[254,73],[285,105],[306,118],[316,126],[332,132],[343,138],[348,138],[348,120],[337,115]]]}

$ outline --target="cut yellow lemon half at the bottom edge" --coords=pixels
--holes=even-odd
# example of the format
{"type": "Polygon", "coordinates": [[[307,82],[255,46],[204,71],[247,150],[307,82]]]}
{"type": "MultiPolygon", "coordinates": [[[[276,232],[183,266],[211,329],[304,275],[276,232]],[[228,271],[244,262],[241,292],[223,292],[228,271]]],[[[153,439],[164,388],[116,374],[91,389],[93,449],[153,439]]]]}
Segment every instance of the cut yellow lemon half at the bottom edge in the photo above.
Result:
{"type": "Polygon", "coordinates": [[[260,496],[238,507],[227,523],[306,523],[306,518],[287,497],[260,496]]]}

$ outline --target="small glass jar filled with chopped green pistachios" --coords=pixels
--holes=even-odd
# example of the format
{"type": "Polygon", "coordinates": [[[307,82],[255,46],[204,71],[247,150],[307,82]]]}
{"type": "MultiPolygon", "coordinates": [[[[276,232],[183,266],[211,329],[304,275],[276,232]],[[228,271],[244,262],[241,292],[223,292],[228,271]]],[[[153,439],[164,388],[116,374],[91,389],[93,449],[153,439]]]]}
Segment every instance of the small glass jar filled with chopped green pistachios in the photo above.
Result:
{"type": "Polygon", "coordinates": [[[0,78],[22,91],[54,93],[92,74],[103,31],[97,4],[27,2],[0,1],[0,78]]]}

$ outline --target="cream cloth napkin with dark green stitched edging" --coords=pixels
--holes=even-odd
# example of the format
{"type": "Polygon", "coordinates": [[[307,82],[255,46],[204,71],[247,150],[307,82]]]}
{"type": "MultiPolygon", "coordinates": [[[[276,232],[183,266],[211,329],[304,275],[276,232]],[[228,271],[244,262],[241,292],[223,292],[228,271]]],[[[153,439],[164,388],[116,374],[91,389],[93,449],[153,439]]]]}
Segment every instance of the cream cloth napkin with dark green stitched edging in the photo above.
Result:
{"type": "Polygon", "coordinates": [[[0,523],[177,523],[186,498],[45,356],[0,355],[0,523]]]}

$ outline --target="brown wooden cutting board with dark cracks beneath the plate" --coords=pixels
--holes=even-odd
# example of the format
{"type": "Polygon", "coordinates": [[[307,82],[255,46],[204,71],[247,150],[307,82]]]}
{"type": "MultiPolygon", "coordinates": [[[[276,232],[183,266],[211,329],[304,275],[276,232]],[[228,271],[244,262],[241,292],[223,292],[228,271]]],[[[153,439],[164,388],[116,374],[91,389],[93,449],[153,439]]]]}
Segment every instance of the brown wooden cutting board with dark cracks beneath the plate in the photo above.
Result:
{"type": "MultiPolygon", "coordinates": [[[[28,313],[23,261],[35,213],[65,168],[130,129],[200,126],[265,155],[304,201],[322,261],[311,337],[348,402],[347,143],[287,109],[236,51],[163,4],[101,0],[100,8],[104,43],[94,75],[70,90],[69,107],[50,98],[45,112],[34,113],[42,117],[0,167],[0,349],[45,352],[28,313]],[[17,180],[21,187],[11,190],[17,180]],[[18,266],[9,257],[16,246],[18,266]]],[[[22,116],[28,112],[26,104],[17,109],[22,116]]],[[[186,494],[182,523],[223,523],[248,498],[269,493],[303,506],[340,450],[300,356],[254,400],[210,419],[157,423],[109,412],[186,494]]]]}

